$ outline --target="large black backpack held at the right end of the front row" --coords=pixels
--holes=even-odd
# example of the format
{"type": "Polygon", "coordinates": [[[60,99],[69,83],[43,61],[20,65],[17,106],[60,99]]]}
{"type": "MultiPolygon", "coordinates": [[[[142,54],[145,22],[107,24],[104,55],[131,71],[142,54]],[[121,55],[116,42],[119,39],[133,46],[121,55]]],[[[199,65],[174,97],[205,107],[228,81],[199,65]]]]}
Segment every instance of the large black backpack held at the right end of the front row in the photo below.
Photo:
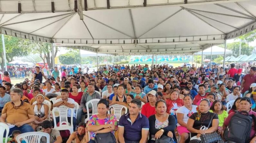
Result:
{"type": "Polygon", "coordinates": [[[229,125],[224,131],[224,139],[236,143],[245,143],[250,140],[252,117],[246,111],[237,112],[232,116],[229,125]]]}

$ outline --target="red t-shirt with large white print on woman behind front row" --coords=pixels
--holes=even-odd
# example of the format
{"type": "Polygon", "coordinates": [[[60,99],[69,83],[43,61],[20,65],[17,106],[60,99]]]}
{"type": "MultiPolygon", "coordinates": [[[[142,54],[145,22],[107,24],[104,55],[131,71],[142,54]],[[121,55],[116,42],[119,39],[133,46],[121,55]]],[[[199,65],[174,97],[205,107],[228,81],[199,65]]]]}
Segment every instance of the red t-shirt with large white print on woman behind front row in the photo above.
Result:
{"type": "Polygon", "coordinates": [[[184,105],[184,102],[182,99],[178,98],[176,100],[172,100],[172,99],[167,99],[166,100],[166,104],[167,104],[167,110],[166,112],[169,114],[173,114],[176,115],[176,111],[179,107],[182,107],[184,105]]]}

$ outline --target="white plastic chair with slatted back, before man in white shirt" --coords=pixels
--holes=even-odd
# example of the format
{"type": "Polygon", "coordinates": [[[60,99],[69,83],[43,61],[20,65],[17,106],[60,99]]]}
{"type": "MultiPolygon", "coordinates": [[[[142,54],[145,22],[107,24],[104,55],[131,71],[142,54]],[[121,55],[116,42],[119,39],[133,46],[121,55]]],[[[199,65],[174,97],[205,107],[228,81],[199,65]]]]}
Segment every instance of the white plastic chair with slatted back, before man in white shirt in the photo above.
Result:
{"type": "Polygon", "coordinates": [[[60,107],[54,107],[52,109],[52,118],[54,121],[54,129],[62,131],[62,130],[69,130],[70,134],[73,133],[73,115],[74,115],[74,108],[69,108],[67,106],[60,106],[60,107]],[[68,110],[71,110],[71,123],[69,125],[68,122],[68,110]],[[60,118],[60,126],[57,127],[56,123],[56,116],[55,116],[55,110],[59,111],[59,118],[60,118]],[[65,124],[63,124],[65,123],[65,124]]]}

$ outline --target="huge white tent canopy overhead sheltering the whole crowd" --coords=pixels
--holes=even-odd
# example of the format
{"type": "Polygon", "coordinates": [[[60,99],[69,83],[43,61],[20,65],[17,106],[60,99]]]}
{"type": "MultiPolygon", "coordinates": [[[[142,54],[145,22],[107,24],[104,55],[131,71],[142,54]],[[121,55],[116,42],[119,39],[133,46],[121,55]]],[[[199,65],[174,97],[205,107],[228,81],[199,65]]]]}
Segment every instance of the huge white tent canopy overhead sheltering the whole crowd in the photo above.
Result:
{"type": "Polygon", "coordinates": [[[97,53],[191,55],[256,28],[255,0],[84,2],[0,0],[0,31],[97,53]]]}

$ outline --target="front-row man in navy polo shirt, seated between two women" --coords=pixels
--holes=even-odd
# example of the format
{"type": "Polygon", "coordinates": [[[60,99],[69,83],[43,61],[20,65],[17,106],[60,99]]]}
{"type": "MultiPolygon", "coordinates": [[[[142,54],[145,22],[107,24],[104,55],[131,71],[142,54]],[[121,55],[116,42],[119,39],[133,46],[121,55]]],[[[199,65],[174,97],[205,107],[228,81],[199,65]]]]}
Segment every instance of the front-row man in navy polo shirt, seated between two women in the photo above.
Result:
{"type": "Polygon", "coordinates": [[[146,116],[139,113],[141,101],[133,99],[129,105],[129,113],[122,115],[118,123],[119,143],[147,142],[149,122],[146,116]]]}

